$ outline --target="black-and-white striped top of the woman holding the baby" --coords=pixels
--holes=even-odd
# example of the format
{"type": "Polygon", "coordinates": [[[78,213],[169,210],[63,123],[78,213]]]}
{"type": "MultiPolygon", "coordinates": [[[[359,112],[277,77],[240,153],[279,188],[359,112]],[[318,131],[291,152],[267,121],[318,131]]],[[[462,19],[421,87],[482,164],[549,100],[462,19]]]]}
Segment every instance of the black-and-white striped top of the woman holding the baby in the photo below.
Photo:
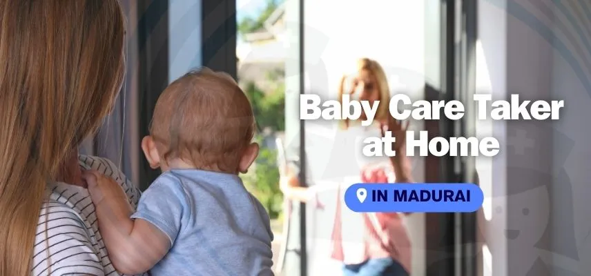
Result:
{"type": "MultiPolygon", "coordinates": [[[[113,162],[80,155],[79,164],[85,170],[113,177],[135,210],[139,190],[113,162]]],[[[31,275],[120,275],[108,258],[88,190],[61,182],[48,184],[47,189],[48,200],[41,206],[37,224],[31,275]]]]}

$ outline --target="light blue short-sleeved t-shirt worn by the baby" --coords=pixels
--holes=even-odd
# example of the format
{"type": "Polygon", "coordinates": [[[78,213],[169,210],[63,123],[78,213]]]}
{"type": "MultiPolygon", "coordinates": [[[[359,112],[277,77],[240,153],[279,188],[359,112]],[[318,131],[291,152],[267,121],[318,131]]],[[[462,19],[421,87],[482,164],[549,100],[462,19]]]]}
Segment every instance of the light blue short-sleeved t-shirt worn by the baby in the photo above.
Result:
{"type": "Polygon", "coordinates": [[[273,275],[269,215],[238,175],[171,170],[144,192],[137,212],[171,239],[152,275],[273,275]]]}

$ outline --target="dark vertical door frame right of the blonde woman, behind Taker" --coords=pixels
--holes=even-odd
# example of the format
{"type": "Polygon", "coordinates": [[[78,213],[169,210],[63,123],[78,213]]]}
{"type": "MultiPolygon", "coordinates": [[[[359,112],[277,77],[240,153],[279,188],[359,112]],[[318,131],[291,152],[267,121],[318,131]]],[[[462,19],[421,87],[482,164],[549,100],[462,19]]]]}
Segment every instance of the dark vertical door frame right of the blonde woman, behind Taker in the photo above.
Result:
{"type": "MultiPolygon", "coordinates": [[[[444,117],[433,123],[426,121],[429,136],[475,136],[477,0],[440,0],[440,85],[425,83],[425,98],[459,100],[465,104],[463,119],[444,117]]],[[[427,26],[429,28],[429,26],[427,26]]],[[[425,159],[428,182],[474,183],[474,157],[433,157],[425,159]]],[[[476,213],[426,214],[426,274],[480,275],[476,258],[476,213]]]]}

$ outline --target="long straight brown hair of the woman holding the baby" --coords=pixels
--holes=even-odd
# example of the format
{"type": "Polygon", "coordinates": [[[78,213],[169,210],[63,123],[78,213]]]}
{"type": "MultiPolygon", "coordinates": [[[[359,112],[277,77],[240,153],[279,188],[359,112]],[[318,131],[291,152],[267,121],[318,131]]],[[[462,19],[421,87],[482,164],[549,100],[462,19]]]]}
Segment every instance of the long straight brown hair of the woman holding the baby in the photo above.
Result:
{"type": "Polygon", "coordinates": [[[30,274],[46,184],[124,77],[117,0],[0,1],[0,275],[30,274]]]}

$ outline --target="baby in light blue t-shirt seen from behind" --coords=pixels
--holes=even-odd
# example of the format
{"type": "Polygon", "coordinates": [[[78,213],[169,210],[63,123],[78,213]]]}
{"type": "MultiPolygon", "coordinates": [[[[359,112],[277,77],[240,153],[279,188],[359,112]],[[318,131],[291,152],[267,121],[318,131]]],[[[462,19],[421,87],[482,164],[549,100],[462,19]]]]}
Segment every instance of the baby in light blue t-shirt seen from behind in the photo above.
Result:
{"type": "Polygon", "coordinates": [[[85,172],[120,273],[273,275],[269,215],[238,177],[253,164],[255,120],[235,81],[189,72],[160,95],[142,150],[160,175],[133,213],[120,186],[85,172]]]}

